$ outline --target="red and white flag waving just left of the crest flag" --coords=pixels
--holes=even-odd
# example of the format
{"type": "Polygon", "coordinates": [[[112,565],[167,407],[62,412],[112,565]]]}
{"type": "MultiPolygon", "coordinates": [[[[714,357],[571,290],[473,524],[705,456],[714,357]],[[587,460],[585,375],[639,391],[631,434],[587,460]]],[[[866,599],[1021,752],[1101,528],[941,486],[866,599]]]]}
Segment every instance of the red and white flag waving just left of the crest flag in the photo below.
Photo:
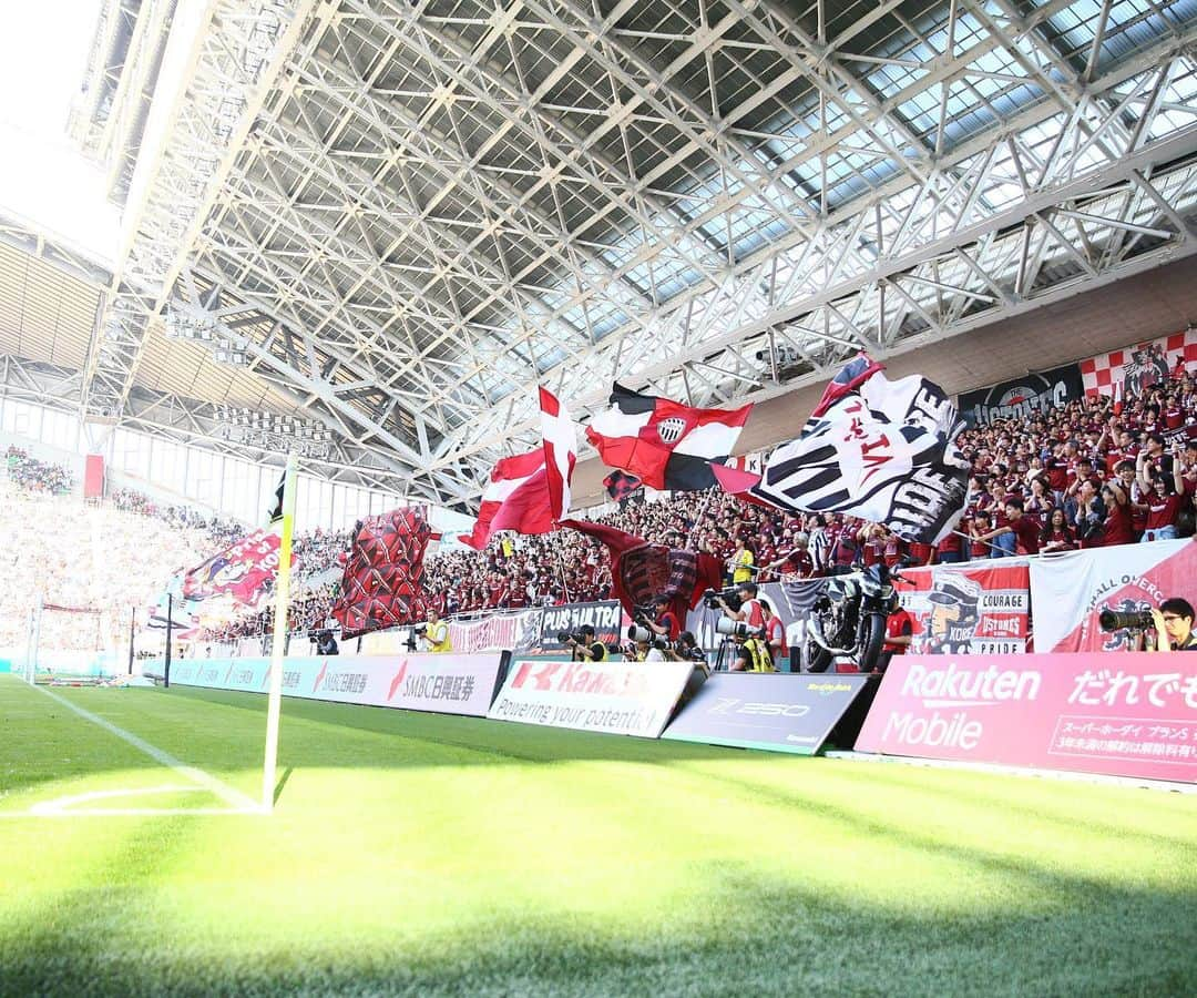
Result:
{"type": "Polygon", "coordinates": [[[540,405],[541,446],[494,466],[474,531],[458,538],[462,544],[481,551],[497,531],[549,533],[569,510],[577,435],[565,406],[543,388],[540,405]]]}

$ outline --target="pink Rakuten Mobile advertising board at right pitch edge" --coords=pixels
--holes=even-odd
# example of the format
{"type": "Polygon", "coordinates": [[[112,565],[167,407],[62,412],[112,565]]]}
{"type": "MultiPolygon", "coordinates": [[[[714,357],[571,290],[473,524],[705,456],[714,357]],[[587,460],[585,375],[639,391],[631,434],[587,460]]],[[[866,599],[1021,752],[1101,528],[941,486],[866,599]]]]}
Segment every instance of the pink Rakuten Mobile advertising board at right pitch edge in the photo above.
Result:
{"type": "Polygon", "coordinates": [[[856,750],[1197,781],[1197,655],[898,655],[856,750]]]}

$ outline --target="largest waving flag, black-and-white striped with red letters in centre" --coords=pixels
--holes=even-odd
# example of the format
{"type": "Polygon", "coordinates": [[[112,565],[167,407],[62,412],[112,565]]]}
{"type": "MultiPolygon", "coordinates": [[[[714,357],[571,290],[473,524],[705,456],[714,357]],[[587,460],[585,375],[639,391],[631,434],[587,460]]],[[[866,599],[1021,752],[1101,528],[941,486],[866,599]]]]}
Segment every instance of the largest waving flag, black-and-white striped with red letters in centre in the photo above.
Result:
{"type": "Polygon", "coordinates": [[[962,423],[943,391],[911,375],[889,381],[865,355],[827,387],[797,440],[780,444],[760,476],[719,468],[745,498],[791,512],[843,513],[935,544],[964,509],[968,462],[962,423]]]}

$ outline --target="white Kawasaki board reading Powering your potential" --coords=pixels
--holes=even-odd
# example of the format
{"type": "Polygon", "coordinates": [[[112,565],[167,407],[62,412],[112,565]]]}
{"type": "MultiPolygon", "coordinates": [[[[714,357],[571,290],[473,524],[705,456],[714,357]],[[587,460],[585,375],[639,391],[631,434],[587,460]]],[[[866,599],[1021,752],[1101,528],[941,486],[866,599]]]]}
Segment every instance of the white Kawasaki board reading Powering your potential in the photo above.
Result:
{"type": "Polygon", "coordinates": [[[693,670],[685,661],[517,660],[488,716],[660,738],[693,670]]]}

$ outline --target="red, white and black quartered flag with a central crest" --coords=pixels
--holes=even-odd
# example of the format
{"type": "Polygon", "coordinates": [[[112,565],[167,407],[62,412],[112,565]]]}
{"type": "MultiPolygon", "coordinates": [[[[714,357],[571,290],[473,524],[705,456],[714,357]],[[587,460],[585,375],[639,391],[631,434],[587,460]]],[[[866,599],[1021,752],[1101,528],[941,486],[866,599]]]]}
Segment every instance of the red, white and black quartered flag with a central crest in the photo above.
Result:
{"type": "Polygon", "coordinates": [[[616,383],[612,407],[587,427],[587,440],[608,467],[639,477],[652,489],[695,490],[716,484],[711,461],[727,458],[752,406],[692,409],[642,395],[616,383]]]}

